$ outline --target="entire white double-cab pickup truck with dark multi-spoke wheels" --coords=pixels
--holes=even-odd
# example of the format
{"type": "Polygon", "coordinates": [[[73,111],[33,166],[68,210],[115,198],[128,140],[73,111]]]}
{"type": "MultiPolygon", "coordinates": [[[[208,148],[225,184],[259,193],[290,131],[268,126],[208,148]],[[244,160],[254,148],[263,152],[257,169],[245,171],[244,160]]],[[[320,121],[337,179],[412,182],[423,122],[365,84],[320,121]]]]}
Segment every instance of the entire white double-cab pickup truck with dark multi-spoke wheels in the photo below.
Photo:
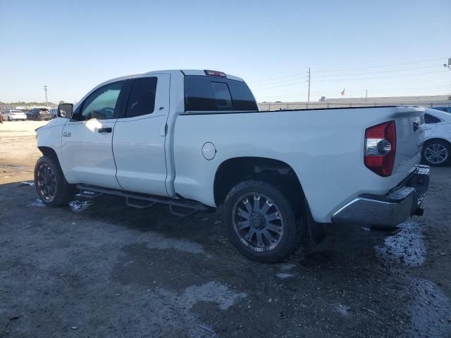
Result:
{"type": "Polygon", "coordinates": [[[279,261],[328,223],[395,227],[421,215],[424,109],[259,111],[245,82],[163,70],[99,84],[37,129],[48,206],[115,194],[178,215],[218,207],[238,251],[279,261]]]}

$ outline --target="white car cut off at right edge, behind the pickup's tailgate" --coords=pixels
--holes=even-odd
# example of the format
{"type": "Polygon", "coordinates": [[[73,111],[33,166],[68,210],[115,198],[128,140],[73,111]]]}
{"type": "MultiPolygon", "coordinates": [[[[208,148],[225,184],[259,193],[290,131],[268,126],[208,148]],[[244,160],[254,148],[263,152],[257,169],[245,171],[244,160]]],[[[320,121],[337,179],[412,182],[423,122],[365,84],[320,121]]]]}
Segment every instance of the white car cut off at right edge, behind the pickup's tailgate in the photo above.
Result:
{"type": "MultiPolygon", "coordinates": [[[[446,108],[446,107],[445,107],[446,108]]],[[[451,159],[451,114],[435,108],[424,114],[423,161],[428,165],[445,165],[451,159]]]]}

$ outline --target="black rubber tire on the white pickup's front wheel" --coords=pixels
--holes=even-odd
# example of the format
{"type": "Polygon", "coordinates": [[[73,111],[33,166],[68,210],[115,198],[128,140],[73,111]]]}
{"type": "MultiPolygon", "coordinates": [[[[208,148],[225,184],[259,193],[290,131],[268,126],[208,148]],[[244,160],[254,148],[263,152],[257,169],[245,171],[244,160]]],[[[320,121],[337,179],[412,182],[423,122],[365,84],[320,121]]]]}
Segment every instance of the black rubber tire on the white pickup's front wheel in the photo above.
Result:
{"type": "MultiPolygon", "coordinates": [[[[53,182],[53,180],[52,180],[53,182]]],[[[57,161],[49,156],[42,156],[39,158],[35,165],[35,187],[37,196],[41,199],[46,206],[64,206],[73,200],[75,196],[75,186],[69,184],[63,175],[61,167],[57,161]],[[42,170],[50,169],[54,177],[54,186],[49,182],[43,183],[42,170]],[[46,196],[46,188],[52,186],[51,197],[46,196]]],[[[49,195],[49,194],[47,194],[49,195]]]]}

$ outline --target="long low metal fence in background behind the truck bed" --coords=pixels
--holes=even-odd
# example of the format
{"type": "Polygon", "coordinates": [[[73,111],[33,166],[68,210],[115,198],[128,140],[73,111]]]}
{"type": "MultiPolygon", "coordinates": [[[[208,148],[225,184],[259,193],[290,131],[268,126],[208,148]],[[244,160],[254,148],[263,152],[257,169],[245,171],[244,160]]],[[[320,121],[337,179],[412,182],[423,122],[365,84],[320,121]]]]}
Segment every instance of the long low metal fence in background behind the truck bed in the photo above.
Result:
{"type": "Polygon", "coordinates": [[[348,107],[378,107],[378,106],[421,106],[424,108],[451,107],[451,101],[412,101],[412,102],[262,102],[261,111],[280,111],[284,109],[323,109],[348,107]]]}

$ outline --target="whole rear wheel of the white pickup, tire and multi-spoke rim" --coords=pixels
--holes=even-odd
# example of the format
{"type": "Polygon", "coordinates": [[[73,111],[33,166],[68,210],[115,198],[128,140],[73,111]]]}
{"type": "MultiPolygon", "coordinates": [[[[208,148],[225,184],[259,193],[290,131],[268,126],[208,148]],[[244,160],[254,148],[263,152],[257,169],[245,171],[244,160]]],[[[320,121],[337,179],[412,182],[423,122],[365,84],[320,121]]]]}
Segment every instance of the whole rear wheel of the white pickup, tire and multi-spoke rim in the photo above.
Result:
{"type": "Polygon", "coordinates": [[[270,184],[249,180],[235,185],[223,206],[230,242],[254,261],[277,262],[295,251],[301,227],[292,204],[270,184]]]}

